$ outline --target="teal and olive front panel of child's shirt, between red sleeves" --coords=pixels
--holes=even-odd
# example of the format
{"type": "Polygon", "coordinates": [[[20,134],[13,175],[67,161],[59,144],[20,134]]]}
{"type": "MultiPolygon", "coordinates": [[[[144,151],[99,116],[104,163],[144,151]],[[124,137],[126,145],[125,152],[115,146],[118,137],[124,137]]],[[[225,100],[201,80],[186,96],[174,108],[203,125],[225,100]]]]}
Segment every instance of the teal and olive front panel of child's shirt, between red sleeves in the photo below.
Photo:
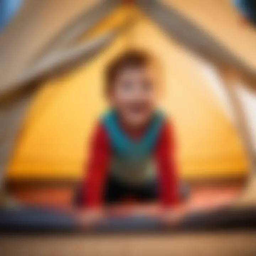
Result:
{"type": "Polygon", "coordinates": [[[164,123],[164,114],[155,112],[140,140],[133,141],[119,125],[118,114],[111,110],[102,119],[113,149],[111,173],[124,183],[144,183],[156,176],[152,158],[155,145],[164,123]]]}

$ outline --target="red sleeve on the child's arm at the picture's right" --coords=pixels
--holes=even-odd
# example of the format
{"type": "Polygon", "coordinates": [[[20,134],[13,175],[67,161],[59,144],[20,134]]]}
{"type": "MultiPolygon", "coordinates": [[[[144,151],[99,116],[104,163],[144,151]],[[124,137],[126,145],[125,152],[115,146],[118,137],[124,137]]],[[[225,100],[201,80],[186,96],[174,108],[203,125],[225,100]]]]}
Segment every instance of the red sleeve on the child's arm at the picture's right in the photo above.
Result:
{"type": "Polygon", "coordinates": [[[156,147],[156,163],[160,181],[160,200],[164,207],[178,203],[178,176],[175,163],[175,143],[172,127],[166,122],[162,127],[156,147]]]}

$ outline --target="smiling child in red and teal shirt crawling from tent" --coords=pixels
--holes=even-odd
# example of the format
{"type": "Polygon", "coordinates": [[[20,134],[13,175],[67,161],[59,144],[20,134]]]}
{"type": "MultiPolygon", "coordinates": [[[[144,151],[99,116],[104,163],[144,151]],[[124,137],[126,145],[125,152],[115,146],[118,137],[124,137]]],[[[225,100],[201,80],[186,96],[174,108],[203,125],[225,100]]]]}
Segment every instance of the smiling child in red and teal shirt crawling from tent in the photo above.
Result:
{"type": "Polygon", "coordinates": [[[98,209],[125,198],[178,202],[171,124],[157,110],[159,80],[154,60],[129,51],[106,70],[110,111],[98,122],[84,182],[83,204],[98,209]]]}

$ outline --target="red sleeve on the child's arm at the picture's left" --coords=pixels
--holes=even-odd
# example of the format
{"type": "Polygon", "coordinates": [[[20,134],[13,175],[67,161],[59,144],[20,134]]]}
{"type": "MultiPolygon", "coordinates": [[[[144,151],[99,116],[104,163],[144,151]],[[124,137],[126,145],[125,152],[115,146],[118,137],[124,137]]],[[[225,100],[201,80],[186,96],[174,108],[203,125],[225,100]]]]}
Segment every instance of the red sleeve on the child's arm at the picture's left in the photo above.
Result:
{"type": "Polygon", "coordinates": [[[90,145],[84,182],[84,206],[100,207],[103,199],[111,146],[105,128],[98,124],[90,145]]]}

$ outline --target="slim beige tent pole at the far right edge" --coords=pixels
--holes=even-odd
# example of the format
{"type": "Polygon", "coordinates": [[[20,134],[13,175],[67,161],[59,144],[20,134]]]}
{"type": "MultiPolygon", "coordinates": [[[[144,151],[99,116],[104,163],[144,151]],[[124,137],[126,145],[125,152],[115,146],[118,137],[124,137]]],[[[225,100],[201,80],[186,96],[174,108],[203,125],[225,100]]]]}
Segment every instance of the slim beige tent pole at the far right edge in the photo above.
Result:
{"type": "Polygon", "coordinates": [[[236,82],[239,81],[239,78],[233,71],[228,69],[219,70],[219,75],[229,98],[229,103],[235,116],[235,122],[240,132],[240,137],[244,143],[249,161],[250,172],[247,186],[241,197],[238,198],[236,206],[256,205],[256,154],[252,143],[253,138],[235,85],[236,82]]]}

